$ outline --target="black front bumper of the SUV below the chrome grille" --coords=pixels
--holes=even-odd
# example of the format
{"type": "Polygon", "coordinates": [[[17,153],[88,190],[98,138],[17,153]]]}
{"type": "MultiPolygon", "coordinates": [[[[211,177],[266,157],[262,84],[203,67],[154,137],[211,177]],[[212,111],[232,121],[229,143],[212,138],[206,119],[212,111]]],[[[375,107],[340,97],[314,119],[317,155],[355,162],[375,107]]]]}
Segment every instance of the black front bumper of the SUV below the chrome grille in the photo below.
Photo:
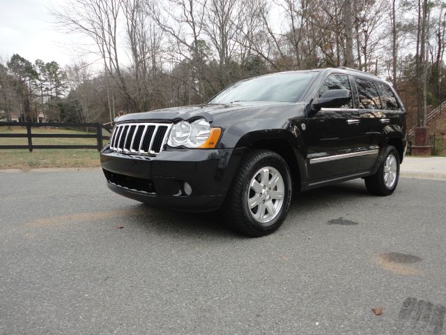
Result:
{"type": "Polygon", "coordinates": [[[165,150],[156,156],[102,149],[108,187],[127,198],[181,211],[219,208],[229,190],[243,149],[165,150]],[[184,183],[190,184],[187,195],[184,183]]]}

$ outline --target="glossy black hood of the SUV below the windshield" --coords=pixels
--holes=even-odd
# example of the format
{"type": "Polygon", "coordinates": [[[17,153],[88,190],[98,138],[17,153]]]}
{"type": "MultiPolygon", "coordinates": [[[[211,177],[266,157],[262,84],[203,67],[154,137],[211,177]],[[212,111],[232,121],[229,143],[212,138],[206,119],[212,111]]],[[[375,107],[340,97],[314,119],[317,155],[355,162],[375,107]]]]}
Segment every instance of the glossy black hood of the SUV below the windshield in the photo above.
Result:
{"type": "Polygon", "coordinates": [[[190,105],[184,107],[171,107],[162,110],[153,110],[151,112],[125,114],[115,119],[115,123],[132,122],[132,121],[191,121],[200,117],[208,122],[213,121],[213,116],[227,112],[235,112],[238,110],[252,109],[253,107],[263,107],[266,105],[290,105],[291,103],[271,103],[271,102],[244,102],[237,104],[203,104],[190,105]]]}

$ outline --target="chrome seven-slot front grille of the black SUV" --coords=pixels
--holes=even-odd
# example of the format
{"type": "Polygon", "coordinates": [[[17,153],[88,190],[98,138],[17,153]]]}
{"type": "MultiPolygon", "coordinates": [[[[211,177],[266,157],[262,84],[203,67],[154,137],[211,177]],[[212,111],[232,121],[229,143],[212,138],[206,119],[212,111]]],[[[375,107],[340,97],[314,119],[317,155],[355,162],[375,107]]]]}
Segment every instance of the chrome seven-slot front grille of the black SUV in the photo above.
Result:
{"type": "Polygon", "coordinates": [[[110,149],[123,154],[157,154],[167,141],[171,124],[118,124],[110,137],[110,149]]]}

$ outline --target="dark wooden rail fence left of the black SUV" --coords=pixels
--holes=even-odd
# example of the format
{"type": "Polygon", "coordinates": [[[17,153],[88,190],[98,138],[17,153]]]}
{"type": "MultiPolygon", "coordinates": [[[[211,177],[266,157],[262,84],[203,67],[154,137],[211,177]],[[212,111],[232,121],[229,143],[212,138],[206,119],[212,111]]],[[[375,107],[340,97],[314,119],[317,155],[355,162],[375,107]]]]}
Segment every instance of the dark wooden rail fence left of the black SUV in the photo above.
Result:
{"type": "Polygon", "coordinates": [[[26,127],[26,133],[0,133],[0,137],[22,137],[28,139],[28,145],[0,145],[0,149],[102,149],[103,141],[109,140],[109,135],[103,135],[102,130],[107,131],[109,134],[112,132],[112,126],[104,124],[75,124],[75,123],[58,123],[58,122],[0,122],[1,126],[22,126],[26,127]],[[33,133],[32,127],[39,128],[63,128],[79,131],[85,131],[85,134],[40,134],[33,133]],[[91,133],[89,129],[94,129],[91,133]],[[92,144],[52,144],[52,145],[41,145],[33,144],[33,138],[95,138],[96,145],[92,144]]]}

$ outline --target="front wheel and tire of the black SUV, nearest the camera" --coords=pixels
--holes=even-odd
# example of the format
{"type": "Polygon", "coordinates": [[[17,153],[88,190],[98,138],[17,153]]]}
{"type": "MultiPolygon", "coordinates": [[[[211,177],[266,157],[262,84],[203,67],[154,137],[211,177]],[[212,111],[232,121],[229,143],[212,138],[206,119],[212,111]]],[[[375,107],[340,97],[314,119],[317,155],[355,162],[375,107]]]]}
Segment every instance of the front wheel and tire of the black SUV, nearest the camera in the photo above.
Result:
{"type": "Polygon", "coordinates": [[[225,200],[226,222],[249,237],[270,234],[288,214],[291,192],[291,173],[282,156],[249,151],[225,200]]]}

